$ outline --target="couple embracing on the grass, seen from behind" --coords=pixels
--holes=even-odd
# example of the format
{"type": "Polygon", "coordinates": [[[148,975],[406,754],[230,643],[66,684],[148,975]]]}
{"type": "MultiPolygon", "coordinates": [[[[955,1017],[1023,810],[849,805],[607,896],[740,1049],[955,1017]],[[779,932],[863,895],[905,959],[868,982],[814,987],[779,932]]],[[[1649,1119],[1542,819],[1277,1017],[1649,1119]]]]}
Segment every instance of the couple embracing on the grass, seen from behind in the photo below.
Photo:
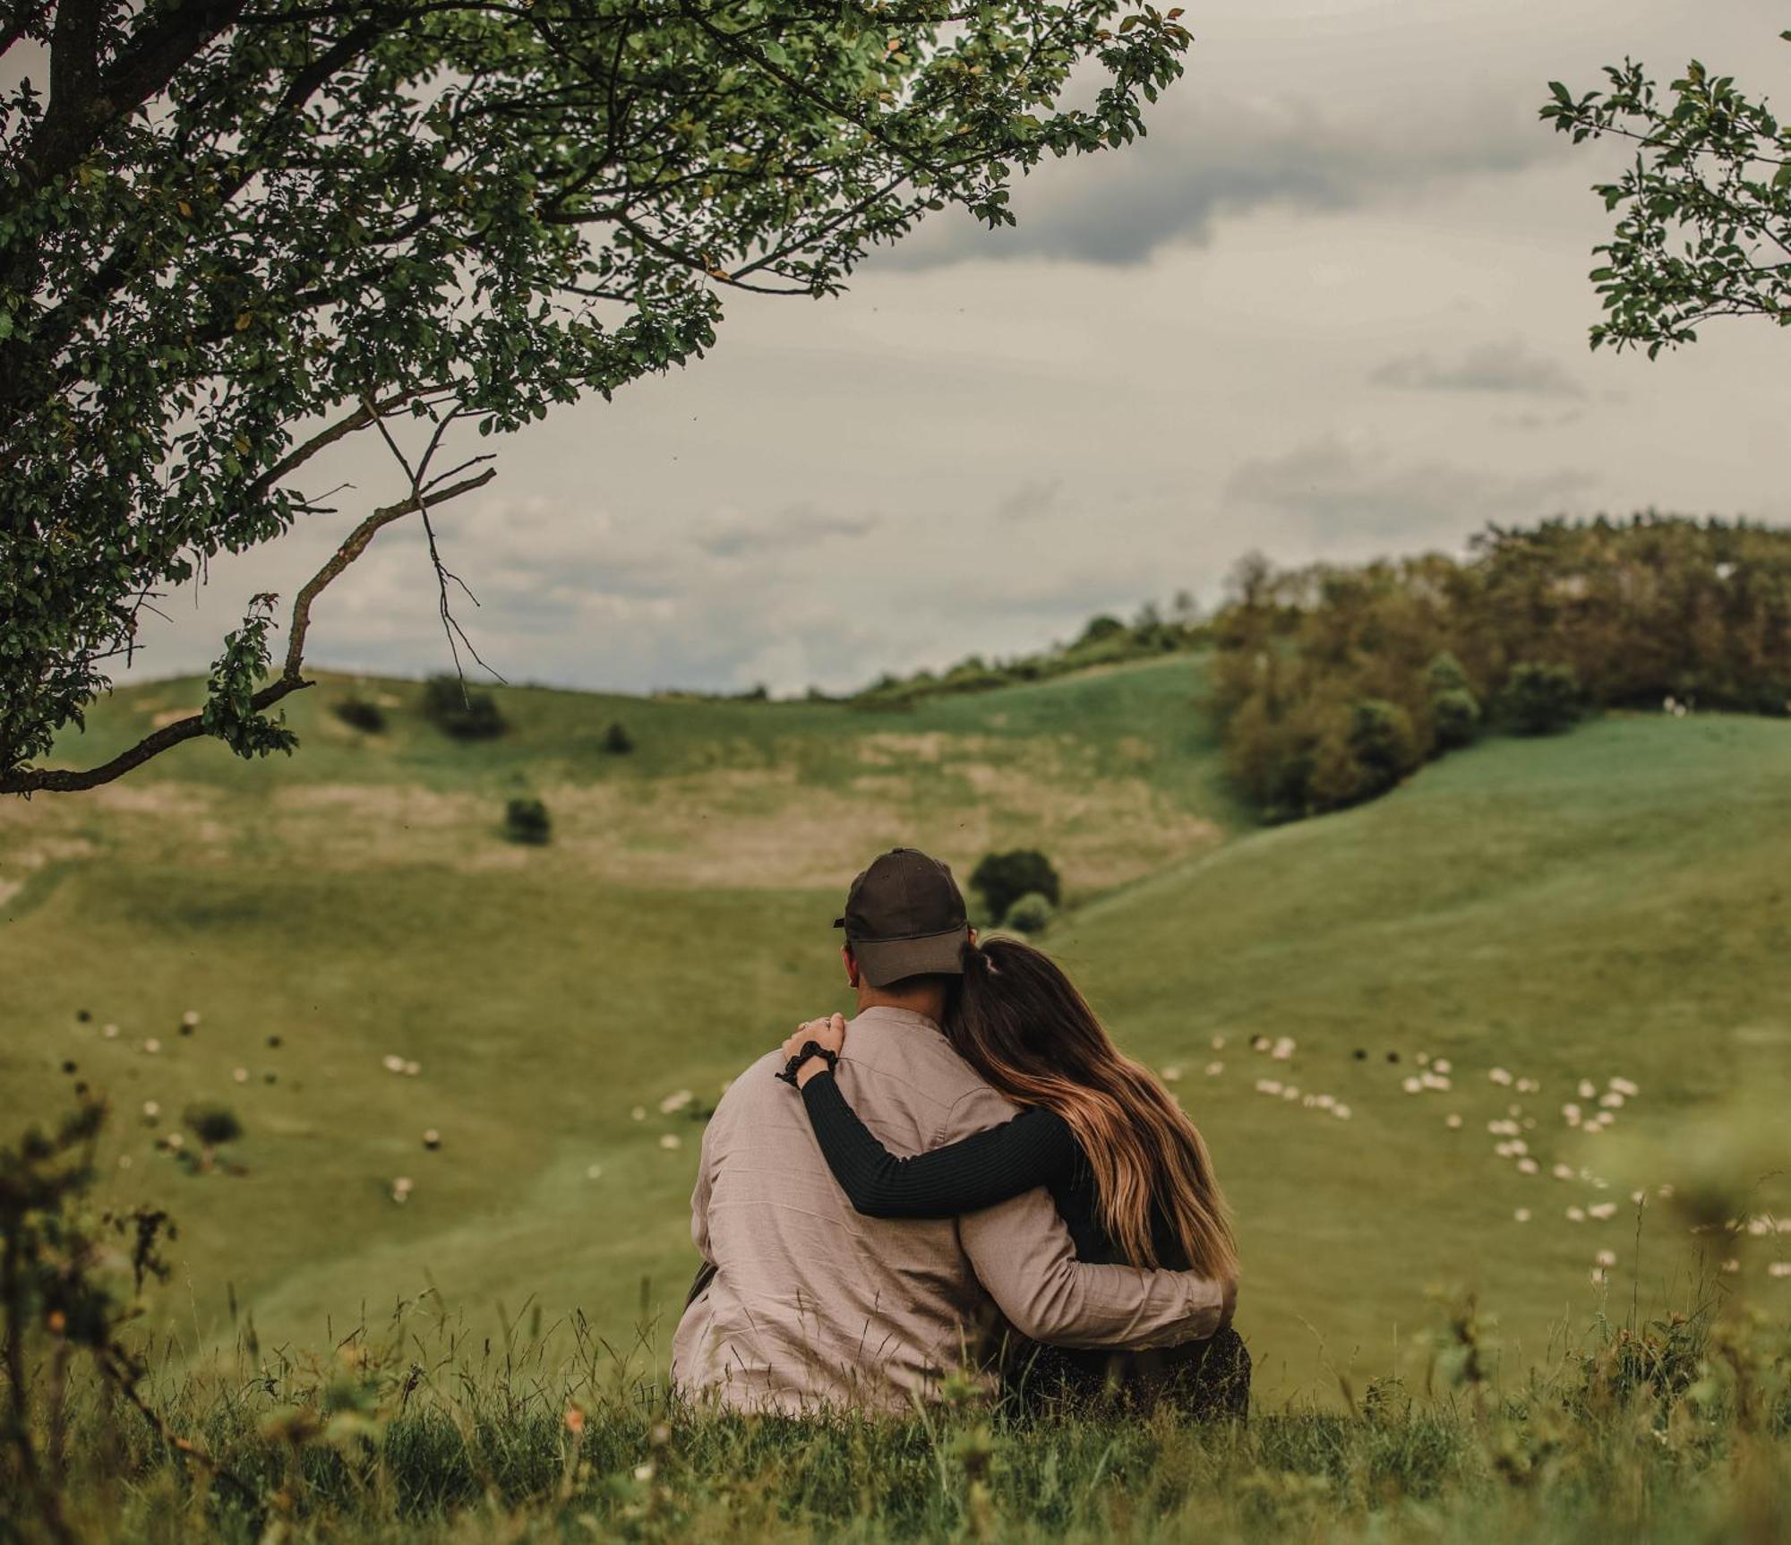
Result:
{"type": "Polygon", "coordinates": [[[912,848],[851,887],[858,1013],[722,1097],[673,1384],[741,1411],[899,1412],[967,1371],[1021,1403],[1243,1416],[1238,1256],[1205,1144],[1048,955],[978,941],[912,848]]]}

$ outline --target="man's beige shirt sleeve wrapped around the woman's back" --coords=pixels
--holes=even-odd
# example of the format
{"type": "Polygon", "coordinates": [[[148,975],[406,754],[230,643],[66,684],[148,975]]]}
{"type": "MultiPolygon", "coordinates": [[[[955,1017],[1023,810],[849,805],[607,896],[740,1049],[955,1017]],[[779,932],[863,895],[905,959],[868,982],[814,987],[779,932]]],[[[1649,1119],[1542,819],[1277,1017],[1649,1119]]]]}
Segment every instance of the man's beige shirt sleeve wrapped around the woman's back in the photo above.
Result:
{"type": "MultiPolygon", "coordinates": [[[[955,1126],[958,1131],[987,1126],[987,1115],[1005,1109],[999,1097],[992,1111],[978,1109],[973,1100],[955,1111],[955,1126]]],[[[1191,1271],[1076,1260],[1069,1230],[1042,1187],[965,1213],[958,1219],[958,1239],[1008,1323],[1048,1346],[1180,1346],[1213,1335],[1229,1316],[1232,1283],[1191,1271]]]]}

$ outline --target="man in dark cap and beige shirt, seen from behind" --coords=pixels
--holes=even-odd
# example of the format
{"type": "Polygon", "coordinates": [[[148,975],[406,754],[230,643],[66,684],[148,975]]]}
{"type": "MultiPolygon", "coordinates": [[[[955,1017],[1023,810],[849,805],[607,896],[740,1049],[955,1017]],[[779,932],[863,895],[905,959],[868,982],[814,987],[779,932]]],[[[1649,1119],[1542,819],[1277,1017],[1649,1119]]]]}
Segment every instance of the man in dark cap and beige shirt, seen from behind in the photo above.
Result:
{"type": "MultiPolygon", "coordinates": [[[[878,1138],[915,1154],[1014,1117],[940,1032],[971,939],[951,871],[912,848],[885,853],[835,927],[858,991],[836,1075],[878,1138]]],[[[1042,1188],[956,1219],[858,1215],[781,1066],[770,1052],[747,1068],[704,1133],[691,1235],[706,1265],[672,1348],[686,1394],[788,1414],[906,1411],[1008,1328],[1152,1348],[1229,1317],[1225,1285],[1078,1262],[1042,1188]]]]}

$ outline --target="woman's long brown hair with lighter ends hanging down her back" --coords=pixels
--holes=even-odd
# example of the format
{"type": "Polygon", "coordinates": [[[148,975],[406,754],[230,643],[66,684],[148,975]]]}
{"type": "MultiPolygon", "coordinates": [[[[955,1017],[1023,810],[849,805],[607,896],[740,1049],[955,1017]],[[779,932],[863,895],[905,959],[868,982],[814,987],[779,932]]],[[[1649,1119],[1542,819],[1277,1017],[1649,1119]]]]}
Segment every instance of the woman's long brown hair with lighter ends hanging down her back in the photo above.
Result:
{"type": "Polygon", "coordinates": [[[1150,1072],[1121,1056],[1082,993],[1042,950],[989,939],[964,950],[946,1036],[994,1088],[1048,1106],[1094,1170],[1100,1217],[1134,1265],[1159,1265],[1161,1210],[1191,1271],[1238,1273],[1230,1208],[1195,1124],[1150,1072]]]}

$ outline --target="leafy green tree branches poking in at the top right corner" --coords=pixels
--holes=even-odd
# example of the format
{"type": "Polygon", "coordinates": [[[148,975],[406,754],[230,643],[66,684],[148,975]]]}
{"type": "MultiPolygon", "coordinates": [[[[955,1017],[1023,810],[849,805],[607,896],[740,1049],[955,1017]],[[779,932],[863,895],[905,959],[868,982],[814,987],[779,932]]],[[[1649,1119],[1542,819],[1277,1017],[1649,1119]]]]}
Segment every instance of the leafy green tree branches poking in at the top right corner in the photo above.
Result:
{"type": "Polygon", "coordinates": [[[1617,224],[1594,249],[1605,319],[1592,348],[1655,358],[1694,342],[1709,317],[1791,326],[1791,127],[1696,59],[1666,93],[1632,59],[1605,77],[1608,91],[1583,97],[1553,81],[1542,108],[1576,143],[1610,134],[1635,145],[1630,168],[1596,188],[1617,224]]]}

